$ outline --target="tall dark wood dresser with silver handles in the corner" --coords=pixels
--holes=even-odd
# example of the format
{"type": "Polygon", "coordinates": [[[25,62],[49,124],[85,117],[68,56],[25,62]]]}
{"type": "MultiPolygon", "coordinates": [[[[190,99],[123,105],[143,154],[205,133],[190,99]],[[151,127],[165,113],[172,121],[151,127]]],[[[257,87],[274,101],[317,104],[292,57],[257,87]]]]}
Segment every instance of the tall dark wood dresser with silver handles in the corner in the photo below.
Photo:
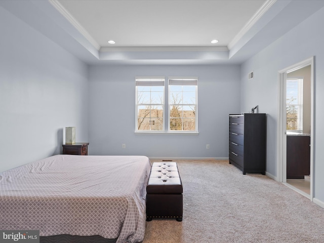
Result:
{"type": "Polygon", "coordinates": [[[266,114],[229,115],[229,164],[246,173],[266,169],[266,114]]]}

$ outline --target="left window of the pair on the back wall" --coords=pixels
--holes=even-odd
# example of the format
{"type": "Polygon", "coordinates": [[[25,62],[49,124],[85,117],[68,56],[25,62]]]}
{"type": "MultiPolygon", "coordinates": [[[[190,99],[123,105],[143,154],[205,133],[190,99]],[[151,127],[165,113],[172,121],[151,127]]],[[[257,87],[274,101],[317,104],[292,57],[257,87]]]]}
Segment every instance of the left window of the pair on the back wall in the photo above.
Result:
{"type": "Polygon", "coordinates": [[[136,78],[136,131],[164,130],[165,78],[136,78]]]}

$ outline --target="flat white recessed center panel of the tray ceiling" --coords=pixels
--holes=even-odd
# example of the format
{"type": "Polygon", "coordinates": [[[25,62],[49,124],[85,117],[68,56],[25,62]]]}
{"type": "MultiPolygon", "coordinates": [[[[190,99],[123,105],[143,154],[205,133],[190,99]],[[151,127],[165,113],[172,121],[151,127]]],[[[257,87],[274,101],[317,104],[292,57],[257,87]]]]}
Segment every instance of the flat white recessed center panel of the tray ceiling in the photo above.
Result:
{"type": "MultiPolygon", "coordinates": [[[[97,48],[228,47],[264,0],[58,0],[97,48]],[[211,41],[217,39],[217,44],[211,41]],[[114,45],[108,44],[115,41],[114,45]]],[[[103,49],[102,49],[103,50],[103,49]]],[[[119,49],[120,50],[120,49],[119,49]]]]}

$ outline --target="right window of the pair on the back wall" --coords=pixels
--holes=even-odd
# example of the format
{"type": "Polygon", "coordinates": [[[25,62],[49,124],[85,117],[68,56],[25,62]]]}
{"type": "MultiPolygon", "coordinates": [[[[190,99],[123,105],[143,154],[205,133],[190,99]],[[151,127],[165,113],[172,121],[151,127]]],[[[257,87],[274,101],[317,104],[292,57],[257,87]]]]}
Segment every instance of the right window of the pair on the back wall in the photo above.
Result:
{"type": "Polygon", "coordinates": [[[169,131],[197,132],[197,79],[169,79],[169,131]]]}

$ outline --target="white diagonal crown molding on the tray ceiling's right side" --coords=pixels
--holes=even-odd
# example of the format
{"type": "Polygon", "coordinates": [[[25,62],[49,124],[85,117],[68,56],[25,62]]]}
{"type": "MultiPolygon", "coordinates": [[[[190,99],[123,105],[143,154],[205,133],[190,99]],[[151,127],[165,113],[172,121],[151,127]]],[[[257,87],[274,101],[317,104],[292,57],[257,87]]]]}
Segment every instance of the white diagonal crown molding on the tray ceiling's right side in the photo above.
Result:
{"type": "Polygon", "coordinates": [[[267,0],[260,9],[252,16],[252,18],[244,25],[244,27],[235,35],[232,41],[228,44],[228,49],[230,50],[240,38],[242,38],[251,27],[271,8],[271,6],[277,0],[267,0]]]}

